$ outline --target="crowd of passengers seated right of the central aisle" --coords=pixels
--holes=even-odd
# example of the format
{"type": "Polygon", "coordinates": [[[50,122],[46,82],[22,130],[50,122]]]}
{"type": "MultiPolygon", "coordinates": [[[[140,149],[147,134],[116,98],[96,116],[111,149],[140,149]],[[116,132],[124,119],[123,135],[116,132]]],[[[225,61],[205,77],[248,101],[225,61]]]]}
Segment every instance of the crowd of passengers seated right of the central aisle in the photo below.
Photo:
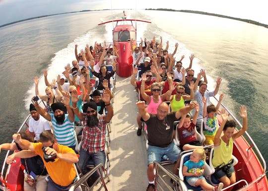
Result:
{"type": "Polygon", "coordinates": [[[243,119],[243,127],[238,132],[234,133],[235,122],[228,120],[224,109],[220,112],[219,126],[217,115],[223,94],[219,96],[216,106],[210,103],[210,97],[218,93],[221,78],[217,78],[213,91],[206,91],[205,70],[201,69],[197,77],[194,77],[193,54],[189,57],[190,64],[184,64],[187,67],[183,67],[182,61],[185,56],[182,56],[180,61],[175,61],[174,58],[178,49],[177,43],[172,54],[168,52],[168,41],[166,48],[163,48],[161,37],[159,43],[153,38],[149,42],[144,39],[144,44],[145,46],[141,39],[139,47],[133,49],[134,69],[131,84],[140,99],[136,103],[138,136],[142,132],[142,123],[146,124],[149,182],[146,191],[155,190],[153,161],[160,162],[165,156],[170,162],[176,163],[174,174],[178,175],[179,154],[181,151],[191,149],[194,149],[193,154],[182,167],[183,176],[189,185],[201,186],[206,191],[220,191],[234,184],[236,176],[231,160],[233,140],[247,130],[246,107],[240,107],[239,114],[243,119]],[[179,123],[174,123],[176,121],[179,123]],[[205,136],[204,143],[200,142],[197,136],[201,132],[201,127],[205,136]],[[176,131],[180,147],[173,142],[176,131]],[[205,145],[214,147],[212,164],[216,169],[215,176],[220,182],[217,186],[208,184],[203,176],[206,154],[202,147],[205,145]],[[227,166],[228,168],[225,168],[227,166]]]}

